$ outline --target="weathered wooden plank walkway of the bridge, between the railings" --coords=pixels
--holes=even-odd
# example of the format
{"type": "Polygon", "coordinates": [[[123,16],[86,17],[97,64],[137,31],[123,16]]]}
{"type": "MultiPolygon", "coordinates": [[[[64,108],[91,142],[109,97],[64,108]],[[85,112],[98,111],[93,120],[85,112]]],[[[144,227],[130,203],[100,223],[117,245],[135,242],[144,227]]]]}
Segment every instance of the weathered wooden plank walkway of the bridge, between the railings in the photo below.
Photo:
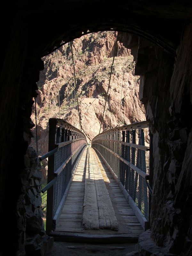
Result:
{"type": "Polygon", "coordinates": [[[121,237],[136,242],[141,232],[111,172],[93,148],[86,148],[53,235],[121,237]]]}

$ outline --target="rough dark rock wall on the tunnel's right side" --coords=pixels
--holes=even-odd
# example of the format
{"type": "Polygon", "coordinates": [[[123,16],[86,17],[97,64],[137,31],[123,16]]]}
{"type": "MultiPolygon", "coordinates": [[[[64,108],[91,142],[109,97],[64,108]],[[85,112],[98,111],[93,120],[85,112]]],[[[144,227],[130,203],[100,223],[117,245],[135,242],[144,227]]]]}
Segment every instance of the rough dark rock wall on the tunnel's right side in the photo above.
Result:
{"type": "MultiPolygon", "coordinates": [[[[156,255],[190,255],[192,251],[192,122],[188,116],[192,111],[191,32],[190,24],[183,31],[175,58],[145,39],[138,38],[135,44],[135,37],[119,36],[133,50],[135,74],[141,75],[140,100],[153,133],[150,236],[164,248],[156,255]]],[[[150,244],[149,238],[142,239],[150,244]]],[[[146,244],[142,242],[142,246],[146,244]]],[[[140,253],[145,255],[143,248],[140,253]]]]}

